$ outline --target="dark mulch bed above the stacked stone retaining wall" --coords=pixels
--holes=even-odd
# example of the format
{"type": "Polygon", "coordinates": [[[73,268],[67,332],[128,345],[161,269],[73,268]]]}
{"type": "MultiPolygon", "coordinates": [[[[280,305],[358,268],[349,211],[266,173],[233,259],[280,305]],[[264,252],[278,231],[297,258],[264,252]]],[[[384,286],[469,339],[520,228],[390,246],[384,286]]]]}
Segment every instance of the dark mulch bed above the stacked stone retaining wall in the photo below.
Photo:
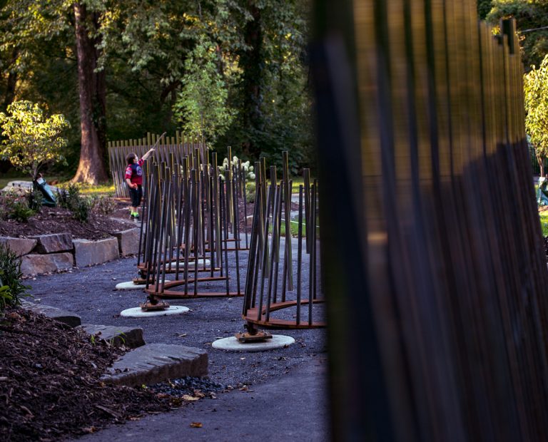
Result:
{"type": "Polygon", "coordinates": [[[3,220],[0,222],[0,236],[28,237],[49,233],[70,233],[73,238],[102,240],[111,237],[112,232],[128,229],[123,222],[111,217],[90,213],[88,222],[75,220],[70,210],[62,207],[42,207],[40,213],[29,218],[28,222],[3,220]]]}

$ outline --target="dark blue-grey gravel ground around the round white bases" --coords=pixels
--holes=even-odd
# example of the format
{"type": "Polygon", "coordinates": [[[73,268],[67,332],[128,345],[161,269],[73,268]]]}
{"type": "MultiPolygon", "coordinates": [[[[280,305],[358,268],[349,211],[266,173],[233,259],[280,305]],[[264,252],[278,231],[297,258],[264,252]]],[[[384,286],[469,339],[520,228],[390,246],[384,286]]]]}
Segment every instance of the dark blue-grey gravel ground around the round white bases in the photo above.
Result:
{"type": "MultiPolygon", "coordinates": [[[[247,252],[240,252],[242,275],[245,275],[246,261],[247,252]]],[[[234,269],[231,272],[234,273],[234,269]]],[[[136,276],[136,258],[132,257],[96,267],[73,269],[64,274],[27,279],[26,282],[31,285],[34,302],[76,312],[84,324],[142,327],[147,343],[181,344],[206,349],[210,379],[218,384],[236,387],[270,381],[305,365],[323,364],[327,359],[325,331],[322,329],[275,332],[295,338],[295,344],[286,349],[257,353],[212,349],[211,342],[215,339],[244,331],[240,316],[243,298],[172,299],[169,300],[171,304],[184,305],[191,312],[179,316],[145,319],[120,317],[123,309],[138,307],[138,302],[145,296],[141,291],[116,291],[114,287],[118,282],[125,282],[136,276]]],[[[303,279],[306,278],[307,275],[304,274],[303,279]]],[[[241,279],[243,281],[243,277],[241,279]]],[[[212,291],[218,291],[222,287],[223,283],[210,284],[212,291]]],[[[318,314],[322,313],[322,307],[315,309],[318,314]]],[[[290,315],[292,312],[283,314],[290,315]]]]}

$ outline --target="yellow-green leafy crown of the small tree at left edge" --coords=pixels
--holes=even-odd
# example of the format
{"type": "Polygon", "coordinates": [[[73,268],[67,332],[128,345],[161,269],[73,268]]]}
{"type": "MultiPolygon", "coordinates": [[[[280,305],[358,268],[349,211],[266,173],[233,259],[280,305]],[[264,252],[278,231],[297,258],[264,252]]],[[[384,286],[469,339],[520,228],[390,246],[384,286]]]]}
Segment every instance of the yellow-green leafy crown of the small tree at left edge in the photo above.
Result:
{"type": "Polygon", "coordinates": [[[0,113],[0,125],[6,138],[0,154],[33,179],[45,163],[64,161],[66,139],[61,133],[70,125],[63,115],[46,118],[38,104],[14,101],[7,113],[0,113]]]}

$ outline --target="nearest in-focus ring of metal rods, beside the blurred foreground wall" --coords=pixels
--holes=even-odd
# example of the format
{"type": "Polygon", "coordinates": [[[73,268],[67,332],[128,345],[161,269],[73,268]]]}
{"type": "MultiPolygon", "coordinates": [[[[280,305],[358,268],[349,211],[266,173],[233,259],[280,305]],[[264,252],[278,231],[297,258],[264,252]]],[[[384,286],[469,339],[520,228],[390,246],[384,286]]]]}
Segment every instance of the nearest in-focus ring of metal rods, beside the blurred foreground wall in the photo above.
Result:
{"type": "Polygon", "coordinates": [[[325,327],[323,317],[316,318],[313,309],[314,304],[323,302],[323,298],[318,296],[318,180],[310,183],[310,170],[303,171],[304,185],[299,186],[295,221],[291,219],[293,183],[288,173],[288,153],[283,153],[283,179],[280,183],[275,166],[270,167],[268,183],[264,158],[255,163],[255,170],[258,173],[255,175],[256,195],[243,319],[248,323],[248,329],[325,327]],[[292,225],[296,227],[296,240],[293,239],[292,225]],[[297,248],[296,287],[293,283],[293,242],[297,248]],[[280,259],[283,259],[281,267],[280,259]],[[305,266],[308,266],[308,272],[303,272],[305,266]],[[305,273],[308,278],[303,277],[305,273]]]}

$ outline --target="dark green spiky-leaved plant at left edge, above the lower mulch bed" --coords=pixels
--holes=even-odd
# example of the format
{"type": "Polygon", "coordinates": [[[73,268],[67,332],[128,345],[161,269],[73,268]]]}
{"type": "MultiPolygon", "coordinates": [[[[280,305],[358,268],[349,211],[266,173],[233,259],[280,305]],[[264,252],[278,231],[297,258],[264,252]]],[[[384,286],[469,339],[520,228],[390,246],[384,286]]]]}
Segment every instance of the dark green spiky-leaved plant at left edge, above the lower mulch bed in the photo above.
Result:
{"type": "Polygon", "coordinates": [[[8,245],[0,243],[0,311],[21,304],[21,297],[29,289],[21,283],[22,276],[21,258],[8,245]]]}

